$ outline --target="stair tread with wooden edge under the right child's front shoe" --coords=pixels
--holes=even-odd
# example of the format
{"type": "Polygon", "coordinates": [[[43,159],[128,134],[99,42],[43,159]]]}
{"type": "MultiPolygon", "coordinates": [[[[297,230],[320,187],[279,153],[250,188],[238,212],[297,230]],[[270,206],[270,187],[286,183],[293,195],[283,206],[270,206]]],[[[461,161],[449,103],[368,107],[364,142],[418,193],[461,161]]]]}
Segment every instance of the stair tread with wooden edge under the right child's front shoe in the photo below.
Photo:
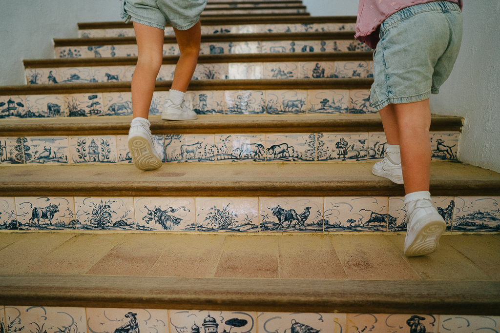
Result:
{"type": "MultiPolygon", "coordinates": [[[[404,196],[402,185],[371,174],[373,162],[168,163],[0,166],[0,196],[404,196]],[[63,186],[61,186],[63,185],[63,186]]],[[[498,195],[500,174],[454,162],[432,162],[433,195],[498,195]]]]}

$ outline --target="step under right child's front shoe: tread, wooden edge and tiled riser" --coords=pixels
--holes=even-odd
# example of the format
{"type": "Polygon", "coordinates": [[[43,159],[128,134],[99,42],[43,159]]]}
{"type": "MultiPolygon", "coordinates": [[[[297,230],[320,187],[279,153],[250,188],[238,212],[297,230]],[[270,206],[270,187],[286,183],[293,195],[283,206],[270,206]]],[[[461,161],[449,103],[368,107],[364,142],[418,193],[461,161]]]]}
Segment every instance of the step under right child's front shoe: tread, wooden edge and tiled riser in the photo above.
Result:
{"type": "MultiPolygon", "coordinates": [[[[0,166],[1,229],[240,235],[404,231],[403,185],[372,175],[372,165],[173,163],[147,172],[133,165],[0,166]],[[37,221],[33,207],[54,207],[53,217],[37,221]],[[175,218],[156,221],[151,210],[157,207],[170,207],[175,218]],[[279,208],[295,211],[299,220],[278,223],[273,212],[279,208]]],[[[446,233],[500,231],[500,174],[432,162],[430,192],[448,225],[446,233]]]]}

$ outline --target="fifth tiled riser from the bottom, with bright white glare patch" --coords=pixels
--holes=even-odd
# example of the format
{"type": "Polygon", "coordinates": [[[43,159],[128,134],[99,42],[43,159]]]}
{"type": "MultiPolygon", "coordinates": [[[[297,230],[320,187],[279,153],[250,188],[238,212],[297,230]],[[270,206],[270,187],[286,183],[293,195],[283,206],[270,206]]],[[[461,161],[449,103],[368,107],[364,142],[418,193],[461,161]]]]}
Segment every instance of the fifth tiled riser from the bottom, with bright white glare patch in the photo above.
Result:
{"type": "MultiPolygon", "coordinates": [[[[26,68],[28,84],[131,81],[135,66],[26,68]]],[[[175,64],[161,65],[157,81],[172,80],[175,64]]],[[[193,79],[370,78],[373,61],[198,63],[193,79]]]]}

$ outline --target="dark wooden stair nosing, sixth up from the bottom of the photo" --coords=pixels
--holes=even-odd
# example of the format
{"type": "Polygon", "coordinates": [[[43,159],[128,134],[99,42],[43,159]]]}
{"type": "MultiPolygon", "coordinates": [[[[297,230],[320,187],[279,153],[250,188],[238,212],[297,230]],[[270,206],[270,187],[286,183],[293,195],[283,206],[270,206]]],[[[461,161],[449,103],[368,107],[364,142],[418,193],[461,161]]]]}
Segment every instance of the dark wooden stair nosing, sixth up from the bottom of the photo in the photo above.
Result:
{"type": "MultiPolygon", "coordinates": [[[[227,33],[201,35],[201,42],[229,41],[274,41],[274,40],[354,40],[354,31],[333,32],[263,32],[263,33],[227,33]]],[[[163,42],[176,43],[175,36],[165,36],[163,42]]],[[[132,37],[99,37],[99,38],[54,38],[54,47],[87,46],[87,45],[133,45],[137,41],[132,37]]]]}

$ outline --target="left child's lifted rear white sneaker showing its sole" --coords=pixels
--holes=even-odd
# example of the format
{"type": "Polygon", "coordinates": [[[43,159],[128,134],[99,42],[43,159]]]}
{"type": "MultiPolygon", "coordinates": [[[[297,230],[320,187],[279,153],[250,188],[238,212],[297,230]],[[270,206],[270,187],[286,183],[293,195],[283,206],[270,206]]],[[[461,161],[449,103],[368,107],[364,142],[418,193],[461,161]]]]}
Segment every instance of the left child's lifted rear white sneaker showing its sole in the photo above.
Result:
{"type": "Polygon", "coordinates": [[[151,131],[139,121],[132,121],[130,125],[128,150],[137,169],[155,170],[161,167],[161,158],[154,147],[151,131]]]}

